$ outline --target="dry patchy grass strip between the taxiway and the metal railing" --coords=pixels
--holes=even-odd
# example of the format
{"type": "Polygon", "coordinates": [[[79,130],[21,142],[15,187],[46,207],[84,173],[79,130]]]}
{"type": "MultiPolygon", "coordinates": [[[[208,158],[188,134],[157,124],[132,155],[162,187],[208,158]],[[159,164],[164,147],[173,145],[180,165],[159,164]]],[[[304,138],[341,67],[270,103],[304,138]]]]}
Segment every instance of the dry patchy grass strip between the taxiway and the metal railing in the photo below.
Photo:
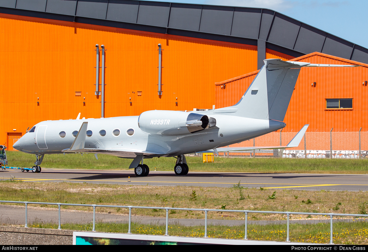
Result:
{"type": "MultiPolygon", "coordinates": [[[[0,198],[4,201],[219,209],[218,212],[209,212],[208,218],[228,220],[244,220],[244,213],[223,212],[222,209],[360,214],[368,208],[367,191],[275,191],[274,189],[240,188],[236,183],[234,185],[235,187],[228,188],[160,187],[70,182],[38,183],[17,181],[15,178],[13,181],[0,181],[0,198]],[[272,195],[273,197],[270,198],[272,195]],[[336,205],[339,207],[336,208],[336,205]]],[[[57,208],[54,205],[42,207],[57,208]]],[[[89,206],[61,206],[61,208],[92,211],[92,207],[89,206]]],[[[96,212],[127,215],[128,209],[96,207],[96,212]]],[[[132,214],[165,217],[166,211],[133,209],[132,214]]],[[[175,210],[170,211],[169,215],[170,218],[204,219],[202,211],[175,210]]],[[[248,217],[250,220],[286,219],[286,215],[281,214],[250,213],[248,217]]],[[[328,219],[328,217],[318,217],[328,219]]],[[[291,215],[293,220],[300,218],[306,219],[307,215],[291,215]]]]}

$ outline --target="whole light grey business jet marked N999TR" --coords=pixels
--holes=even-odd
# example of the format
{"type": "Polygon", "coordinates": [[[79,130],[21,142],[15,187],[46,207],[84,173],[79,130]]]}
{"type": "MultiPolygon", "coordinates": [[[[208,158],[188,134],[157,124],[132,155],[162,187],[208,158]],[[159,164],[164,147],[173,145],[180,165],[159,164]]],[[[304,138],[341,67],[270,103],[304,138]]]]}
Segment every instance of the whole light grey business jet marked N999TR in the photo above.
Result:
{"type": "Polygon", "coordinates": [[[37,123],[13,147],[36,155],[33,172],[40,172],[45,154],[85,152],[131,158],[129,168],[147,176],[144,158],[175,157],[174,171],[186,175],[184,154],[231,150],[296,147],[308,125],[286,146],[221,148],[282,129],[286,109],[305,62],[265,60],[237,104],[209,111],[152,110],[139,116],[56,120],[37,123]]]}

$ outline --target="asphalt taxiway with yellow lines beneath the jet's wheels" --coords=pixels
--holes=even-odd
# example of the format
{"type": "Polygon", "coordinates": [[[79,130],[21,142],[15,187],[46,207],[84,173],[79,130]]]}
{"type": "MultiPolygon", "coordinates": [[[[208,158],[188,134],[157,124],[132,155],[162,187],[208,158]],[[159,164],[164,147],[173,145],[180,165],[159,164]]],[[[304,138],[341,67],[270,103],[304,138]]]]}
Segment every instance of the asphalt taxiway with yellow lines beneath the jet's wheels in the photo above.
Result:
{"type": "Polygon", "coordinates": [[[298,174],[298,173],[229,173],[189,172],[176,176],[174,172],[150,171],[146,177],[137,177],[134,170],[78,170],[46,169],[41,173],[7,169],[0,172],[1,180],[12,178],[33,182],[75,182],[99,184],[130,184],[152,186],[241,186],[272,189],[368,191],[368,174],[298,174]]]}

